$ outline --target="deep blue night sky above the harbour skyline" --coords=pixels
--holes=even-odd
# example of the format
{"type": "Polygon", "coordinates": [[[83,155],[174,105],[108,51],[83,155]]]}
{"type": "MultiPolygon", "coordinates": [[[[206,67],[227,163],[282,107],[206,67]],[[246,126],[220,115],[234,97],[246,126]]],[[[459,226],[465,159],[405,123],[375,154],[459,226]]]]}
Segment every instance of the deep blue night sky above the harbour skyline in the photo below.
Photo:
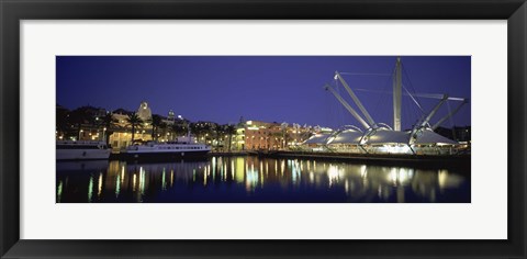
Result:
{"type": "MultiPolygon", "coordinates": [[[[94,105],[137,110],[147,101],[154,113],[169,110],[191,121],[217,123],[246,120],[311,125],[359,125],[327,91],[335,70],[392,74],[394,56],[58,56],[57,103],[68,109],[94,105]]],[[[402,57],[403,85],[417,93],[470,98],[470,56],[402,57]]],[[[344,75],[352,89],[390,92],[389,76],[344,75]]],[[[337,87],[355,108],[344,88],[337,87]]],[[[392,97],[356,92],[373,120],[393,124],[392,97]]],[[[438,102],[418,99],[425,111],[438,102]]],[[[455,109],[457,102],[450,102],[455,109]]],[[[444,105],[441,114],[448,113],[444,105]]],[[[403,127],[419,116],[403,97],[403,127]]],[[[470,125],[470,103],[444,126],[470,125]]]]}

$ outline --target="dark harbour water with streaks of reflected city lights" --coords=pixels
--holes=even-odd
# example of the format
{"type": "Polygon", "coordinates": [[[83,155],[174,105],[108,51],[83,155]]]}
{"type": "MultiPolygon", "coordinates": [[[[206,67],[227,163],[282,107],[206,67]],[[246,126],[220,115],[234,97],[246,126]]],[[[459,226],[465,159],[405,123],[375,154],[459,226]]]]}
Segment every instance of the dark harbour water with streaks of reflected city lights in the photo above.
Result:
{"type": "Polygon", "coordinates": [[[57,162],[57,202],[470,202],[470,172],[313,159],[57,162]]]}

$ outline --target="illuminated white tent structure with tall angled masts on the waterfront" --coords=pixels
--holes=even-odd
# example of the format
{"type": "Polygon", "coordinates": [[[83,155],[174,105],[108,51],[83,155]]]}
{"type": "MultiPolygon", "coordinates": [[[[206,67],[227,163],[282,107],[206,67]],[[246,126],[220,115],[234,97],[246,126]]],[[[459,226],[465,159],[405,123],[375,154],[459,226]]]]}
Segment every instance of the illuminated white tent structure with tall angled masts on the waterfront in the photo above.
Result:
{"type": "MultiPolygon", "coordinates": [[[[335,81],[344,86],[358,109],[354,109],[332,86],[326,83],[324,88],[335,95],[344,108],[359,122],[362,128],[352,127],[336,131],[333,134],[317,134],[305,140],[304,144],[321,145],[329,150],[337,151],[367,151],[375,154],[442,154],[438,153],[437,148],[447,146],[451,153],[451,147],[459,145],[459,143],[435,133],[434,130],[456,114],[461,106],[467,103],[467,99],[450,98],[446,94],[415,94],[416,97],[434,98],[440,101],[425,117],[416,123],[412,131],[401,131],[401,97],[403,89],[401,71],[401,58],[397,58],[393,74],[393,128],[386,124],[377,123],[341,77],[340,72],[336,71],[335,81]],[[434,126],[430,126],[430,120],[448,100],[461,101],[461,104],[445,117],[440,119],[434,126]]],[[[414,95],[407,91],[406,93],[417,103],[414,95]]]]}

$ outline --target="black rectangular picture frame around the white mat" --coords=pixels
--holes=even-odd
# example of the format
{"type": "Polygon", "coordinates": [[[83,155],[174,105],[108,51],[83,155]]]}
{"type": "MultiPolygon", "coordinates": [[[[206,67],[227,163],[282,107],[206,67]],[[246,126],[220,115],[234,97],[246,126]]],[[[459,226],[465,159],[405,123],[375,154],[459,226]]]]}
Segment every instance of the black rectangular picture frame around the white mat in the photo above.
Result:
{"type": "MultiPolygon", "coordinates": [[[[1,0],[0,256],[2,258],[526,258],[525,0],[1,0]],[[20,239],[20,26],[33,19],[507,20],[507,240],[20,239]]],[[[474,172],[478,173],[478,172],[474,172]]],[[[503,172],[502,172],[503,173],[503,172]]],[[[43,218],[45,224],[45,218],[43,218]]],[[[482,226],[484,227],[484,226],[482,226]]]]}

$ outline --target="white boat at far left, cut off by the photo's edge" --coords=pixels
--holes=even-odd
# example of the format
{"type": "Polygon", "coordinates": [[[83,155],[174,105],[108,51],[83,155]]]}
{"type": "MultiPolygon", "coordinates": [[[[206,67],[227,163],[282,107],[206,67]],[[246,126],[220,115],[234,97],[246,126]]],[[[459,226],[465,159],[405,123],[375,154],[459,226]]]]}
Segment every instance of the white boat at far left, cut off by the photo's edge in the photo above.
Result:
{"type": "Polygon", "coordinates": [[[109,159],[111,149],[103,142],[57,140],[57,160],[109,159]]]}

